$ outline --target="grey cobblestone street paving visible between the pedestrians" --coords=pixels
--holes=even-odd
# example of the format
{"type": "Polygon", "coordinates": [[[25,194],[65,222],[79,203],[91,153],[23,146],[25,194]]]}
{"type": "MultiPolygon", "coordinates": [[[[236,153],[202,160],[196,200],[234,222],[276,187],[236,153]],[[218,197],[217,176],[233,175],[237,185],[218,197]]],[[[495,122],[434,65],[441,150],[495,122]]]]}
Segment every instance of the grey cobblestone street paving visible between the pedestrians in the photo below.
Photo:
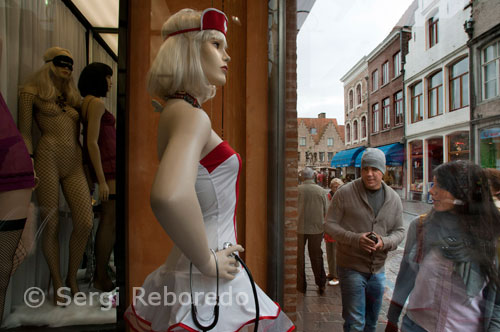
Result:
{"type": "MultiPolygon", "coordinates": [[[[403,201],[404,225],[408,228],[410,222],[422,213],[430,210],[431,205],[422,202],[403,201]]],[[[307,248],[307,247],[306,247],[307,248]]],[[[379,315],[379,324],[377,332],[383,332],[385,329],[386,315],[389,308],[389,302],[392,297],[392,290],[396,282],[396,276],[399,271],[399,263],[403,256],[404,241],[397,250],[391,251],[385,264],[386,288],[382,310],[379,315]]],[[[325,245],[323,242],[323,254],[325,270],[327,271],[327,261],[325,245]]],[[[317,286],[314,284],[314,275],[311,269],[309,256],[306,252],[306,279],[307,291],[305,294],[298,293],[297,298],[297,321],[298,332],[336,332],[342,331],[342,300],[340,296],[340,286],[326,286],[326,292],[320,296],[317,292],[317,286]]]]}

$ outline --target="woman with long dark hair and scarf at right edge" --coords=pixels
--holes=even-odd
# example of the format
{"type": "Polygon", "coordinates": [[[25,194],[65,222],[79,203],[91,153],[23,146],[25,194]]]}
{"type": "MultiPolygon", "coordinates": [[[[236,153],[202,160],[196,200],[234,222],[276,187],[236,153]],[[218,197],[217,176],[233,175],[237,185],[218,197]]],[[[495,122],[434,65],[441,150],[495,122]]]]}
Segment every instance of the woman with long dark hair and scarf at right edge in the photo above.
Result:
{"type": "Polygon", "coordinates": [[[398,331],[407,299],[402,331],[499,331],[500,213],[486,174],[459,160],[433,181],[433,209],[408,230],[386,331],[398,331]]]}

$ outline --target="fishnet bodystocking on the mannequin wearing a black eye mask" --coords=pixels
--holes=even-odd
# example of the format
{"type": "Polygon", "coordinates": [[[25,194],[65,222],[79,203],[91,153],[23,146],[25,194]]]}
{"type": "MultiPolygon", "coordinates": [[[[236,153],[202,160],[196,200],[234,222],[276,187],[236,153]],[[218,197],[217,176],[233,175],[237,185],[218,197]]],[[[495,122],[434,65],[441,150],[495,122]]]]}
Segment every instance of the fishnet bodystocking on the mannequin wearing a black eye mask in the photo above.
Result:
{"type": "MultiPolygon", "coordinates": [[[[19,122],[35,117],[42,132],[35,153],[35,170],[40,178],[37,198],[44,227],[42,248],[49,265],[54,294],[63,286],[59,264],[59,184],[71,209],[73,232],[69,244],[69,267],[66,284],[78,292],[76,274],[92,229],[92,205],[82,166],[82,150],[78,142],[78,112],[68,105],[57,105],[31,93],[21,92],[19,122]]],[[[21,126],[20,126],[21,127],[21,126]]],[[[26,131],[23,132],[29,136],[26,131]]],[[[26,140],[26,138],[25,138],[26,140]]],[[[31,138],[27,140],[31,143],[31,138]]]]}

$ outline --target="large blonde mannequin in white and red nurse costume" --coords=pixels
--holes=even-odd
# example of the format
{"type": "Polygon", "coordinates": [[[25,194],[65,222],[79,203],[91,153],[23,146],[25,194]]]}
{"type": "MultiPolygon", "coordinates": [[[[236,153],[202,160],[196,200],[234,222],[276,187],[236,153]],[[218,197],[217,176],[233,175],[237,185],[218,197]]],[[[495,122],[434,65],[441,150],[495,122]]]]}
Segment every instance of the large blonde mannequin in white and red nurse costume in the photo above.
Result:
{"type": "MultiPolygon", "coordinates": [[[[165,100],[158,128],[160,165],[151,189],[151,208],[175,247],[165,264],[146,278],[142,290],[143,298],[168,290],[173,293],[173,301],[169,297],[164,300],[170,304],[154,306],[134,296],[125,318],[135,331],[199,330],[196,317],[206,326],[207,317],[212,310],[215,313],[213,303],[206,298],[199,301],[198,296],[194,300],[192,295],[191,301],[197,306],[193,311],[182,302],[182,295],[190,290],[192,294],[215,292],[216,284],[220,284],[221,297],[227,295],[231,301],[219,306],[218,320],[208,319],[208,323],[216,324],[214,331],[246,329],[256,318],[252,300],[252,304],[237,304],[239,295],[252,298],[252,288],[231,255],[243,251],[236,244],[235,223],[241,159],[212,130],[200,106],[215,95],[215,86],[226,83],[231,59],[226,52],[226,29],[226,16],[213,8],[203,12],[181,10],[162,28],[165,41],[148,82],[150,93],[165,100]],[[233,246],[223,249],[226,242],[233,246]]],[[[293,329],[291,321],[258,286],[256,296],[260,329],[293,329]]]]}

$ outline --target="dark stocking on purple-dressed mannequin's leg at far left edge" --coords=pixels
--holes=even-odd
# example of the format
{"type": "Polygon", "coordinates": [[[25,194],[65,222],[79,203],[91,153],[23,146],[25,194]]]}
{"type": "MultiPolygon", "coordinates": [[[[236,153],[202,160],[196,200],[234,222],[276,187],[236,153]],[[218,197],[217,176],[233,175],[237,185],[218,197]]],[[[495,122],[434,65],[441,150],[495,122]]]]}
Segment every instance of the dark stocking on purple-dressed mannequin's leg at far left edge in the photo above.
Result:
{"type": "Polygon", "coordinates": [[[10,275],[12,273],[12,258],[14,257],[22,233],[22,229],[0,231],[0,243],[2,245],[2,250],[0,250],[0,325],[2,325],[5,293],[7,292],[7,286],[9,286],[10,275]]]}

